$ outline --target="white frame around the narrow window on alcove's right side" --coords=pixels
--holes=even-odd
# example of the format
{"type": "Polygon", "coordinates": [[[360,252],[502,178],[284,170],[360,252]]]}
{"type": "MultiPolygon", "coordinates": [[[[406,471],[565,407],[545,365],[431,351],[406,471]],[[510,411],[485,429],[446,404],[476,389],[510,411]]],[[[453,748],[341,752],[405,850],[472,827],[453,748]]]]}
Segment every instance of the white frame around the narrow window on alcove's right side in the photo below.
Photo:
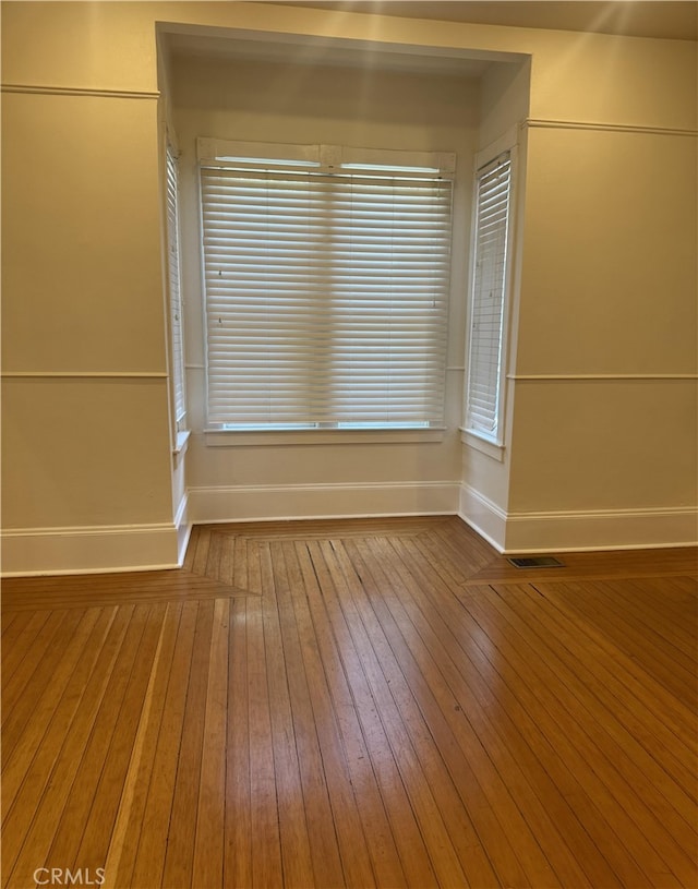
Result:
{"type": "Polygon", "coordinates": [[[517,130],[514,128],[492,145],[482,149],[474,158],[473,177],[473,207],[472,207],[472,235],[470,250],[470,272],[468,281],[468,333],[466,337],[466,376],[464,397],[464,425],[461,427],[461,439],[464,443],[478,450],[494,457],[497,460],[504,459],[505,447],[505,417],[506,417],[506,372],[508,358],[508,333],[510,315],[510,293],[514,277],[513,255],[514,255],[514,219],[516,214],[516,180],[517,180],[518,145],[517,130]],[[508,212],[506,220],[506,249],[504,255],[504,276],[501,308],[500,327],[500,351],[497,356],[497,389],[495,393],[496,409],[495,424],[492,431],[483,430],[471,422],[470,409],[470,382],[472,379],[471,367],[473,360],[472,338],[474,335],[474,300],[476,293],[476,262],[477,262],[477,240],[478,240],[478,185],[482,171],[490,167],[497,158],[508,155],[509,159],[509,194],[508,212]]]}

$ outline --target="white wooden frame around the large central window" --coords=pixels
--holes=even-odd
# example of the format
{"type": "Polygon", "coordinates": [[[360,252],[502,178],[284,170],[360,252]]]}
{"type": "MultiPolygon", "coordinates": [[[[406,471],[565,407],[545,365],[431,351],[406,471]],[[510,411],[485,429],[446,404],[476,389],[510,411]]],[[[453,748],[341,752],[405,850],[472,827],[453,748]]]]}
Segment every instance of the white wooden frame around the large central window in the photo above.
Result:
{"type": "MultiPolygon", "coordinates": [[[[198,139],[197,140],[197,159],[200,168],[202,167],[217,167],[226,168],[232,167],[234,169],[249,168],[249,169],[284,169],[289,170],[304,170],[310,169],[322,173],[333,172],[362,172],[371,170],[375,173],[376,170],[385,170],[386,176],[390,172],[398,171],[399,176],[406,178],[424,178],[425,172],[431,177],[440,177],[453,181],[455,175],[455,153],[428,153],[428,152],[404,152],[404,151],[384,151],[384,149],[370,149],[370,148],[347,148],[334,145],[282,145],[276,143],[249,143],[249,142],[230,142],[214,139],[198,139]]],[[[200,177],[201,183],[201,177],[200,177]]],[[[202,200],[203,208],[203,200],[202,200]]],[[[204,225],[202,219],[202,235],[204,233],[204,225]]],[[[202,259],[204,259],[202,256],[202,259]]],[[[205,280],[205,263],[202,262],[202,269],[204,272],[204,331],[207,337],[208,323],[207,323],[207,305],[208,300],[206,296],[206,280],[205,280]]],[[[446,286],[446,312],[448,309],[448,291],[449,287],[446,286]]],[[[445,346],[444,346],[445,348],[445,346]]],[[[206,355],[209,353],[208,343],[206,341],[206,355]]],[[[444,361],[446,353],[444,352],[444,361]]],[[[254,427],[244,427],[243,424],[213,424],[208,419],[208,360],[205,362],[206,373],[206,427],[207,443],[220,443],[220,434],[228,435],[233,433],[234,436],[249,441],[251,437],[263,434],[264,436],[274,436],[275,440],[279,435],[291,434],[297,437],[302,434],[305,439],[306,435],[313,437],[322,436],[326,441],[326,435],[329,432],[349,433],[358,437],[362,433],[369,435],[373,433],[389,434],[390,436],[405,436],[409,439],[414,432],[431,433],[433,436],[437,430],[443,430],[443,423],[435,425],[434,423],[424,424],[421,428],[407,424],[404,429],[395,424],[376,424],[375,428],[371,425],[352,425],[346,427],[345,424],[337,424],[329,430],[324,424],[308,425],[302,430],[294,430],[292,427],[264,427],[262,424],[254,427]],[[216,441],[218,439],[219,441],[216,441]]],[[[445,385],[445,379],[444,379],[445,385]]]]}

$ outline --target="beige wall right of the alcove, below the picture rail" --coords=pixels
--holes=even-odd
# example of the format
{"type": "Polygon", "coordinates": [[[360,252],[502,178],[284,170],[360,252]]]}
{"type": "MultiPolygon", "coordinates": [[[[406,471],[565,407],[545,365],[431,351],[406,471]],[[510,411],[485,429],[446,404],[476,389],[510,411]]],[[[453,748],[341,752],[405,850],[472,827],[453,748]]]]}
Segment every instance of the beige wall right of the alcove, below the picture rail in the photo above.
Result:
{"type": "Polygon", "coordinates": [[[696,170],[683,132],[529,129],[509,514],[695,506],[696,170]]]}

